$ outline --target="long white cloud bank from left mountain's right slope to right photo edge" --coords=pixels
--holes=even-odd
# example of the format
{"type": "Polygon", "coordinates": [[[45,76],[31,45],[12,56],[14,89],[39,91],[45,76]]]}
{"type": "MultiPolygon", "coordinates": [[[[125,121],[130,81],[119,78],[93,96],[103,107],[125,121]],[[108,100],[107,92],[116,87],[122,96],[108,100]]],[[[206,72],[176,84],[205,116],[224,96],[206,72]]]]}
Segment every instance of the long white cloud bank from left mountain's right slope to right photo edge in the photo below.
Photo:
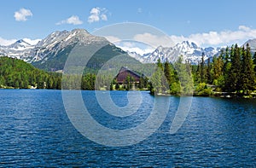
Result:
{"type": "Polygon", "coordinates": [[[143,34],[137,34],[131,39],[131,43],[126,42],[118,37],[108,36],[105,37],[108,41],[116,44],[123,50],[135,51],[139,54],[145,54],[158,46],[172,47],[176,43],[182,43],[183,41],[194,42],[201,47],[220,47],[233,43],[239,45],[245,43],[250,38],[256,38],[256,29],[239,26],[236,31],[225,30],[221,32],[202,32],[191,34],[188,37],[185,36],[156,36],[149,32],[143,34]],[[136,43],[137,42],[137,43],[136,43]],[[141,47],[138,42],[148,44],[148,47],[141,47]]]}

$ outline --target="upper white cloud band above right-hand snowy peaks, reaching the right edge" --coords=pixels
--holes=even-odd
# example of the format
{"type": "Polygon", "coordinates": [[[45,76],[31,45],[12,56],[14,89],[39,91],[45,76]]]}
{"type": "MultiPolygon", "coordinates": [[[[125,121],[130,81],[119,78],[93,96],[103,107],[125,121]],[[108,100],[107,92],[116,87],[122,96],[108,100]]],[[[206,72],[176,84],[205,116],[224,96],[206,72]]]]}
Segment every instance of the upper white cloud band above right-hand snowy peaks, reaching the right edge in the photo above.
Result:
{"type": "Polygon", "coordinates": [[[198,44],[201,47],[213,46],[219,47],[224,45],[230,45],[233,43],[238,43],[241,45],[245,43],[250,38],[256,38],[256,29],[239,26],[238,30],[230,31],[225,30],[221,32],[211,31],[191,34],[188,37],[183,35],[175,36],[155,36],[151,33],[137,34],[134,40],[148,42],[152,46],[163,46],[172,47],[176,43],[182,43],[183,41],[190,41],[198,44]]]}

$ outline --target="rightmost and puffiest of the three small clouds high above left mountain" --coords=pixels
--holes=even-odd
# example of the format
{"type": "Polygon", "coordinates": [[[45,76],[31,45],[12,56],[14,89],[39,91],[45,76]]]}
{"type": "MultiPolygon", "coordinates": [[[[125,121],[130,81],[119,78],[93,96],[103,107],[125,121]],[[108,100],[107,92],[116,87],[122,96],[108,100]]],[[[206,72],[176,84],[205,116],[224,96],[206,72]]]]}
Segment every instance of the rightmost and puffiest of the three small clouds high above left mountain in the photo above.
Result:
{"type": "Polygon", "coordinates": [[[101,9],[99,7],[90,9],[90,16],[88,17],[88,22],[93,23],[100,20],[108,20],[107,9],[101,9]]]}

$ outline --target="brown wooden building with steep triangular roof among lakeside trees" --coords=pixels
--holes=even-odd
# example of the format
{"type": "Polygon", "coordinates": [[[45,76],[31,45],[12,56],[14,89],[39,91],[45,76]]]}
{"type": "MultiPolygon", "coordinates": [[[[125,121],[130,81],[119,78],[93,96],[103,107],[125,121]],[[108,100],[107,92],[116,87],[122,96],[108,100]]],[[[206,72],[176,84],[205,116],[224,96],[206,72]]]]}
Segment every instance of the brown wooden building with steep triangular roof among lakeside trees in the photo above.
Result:
{"type": "Polygon", "coordinates": [[[125,84],[125,80],[130,77],[132,78],[132,83],[138,84],[140,83],[141,75],[137,74],[137,72],[133,72],[126,67],[121,67],[119,73],[116,76],[116,81],[118,84],[125,84]]]}

